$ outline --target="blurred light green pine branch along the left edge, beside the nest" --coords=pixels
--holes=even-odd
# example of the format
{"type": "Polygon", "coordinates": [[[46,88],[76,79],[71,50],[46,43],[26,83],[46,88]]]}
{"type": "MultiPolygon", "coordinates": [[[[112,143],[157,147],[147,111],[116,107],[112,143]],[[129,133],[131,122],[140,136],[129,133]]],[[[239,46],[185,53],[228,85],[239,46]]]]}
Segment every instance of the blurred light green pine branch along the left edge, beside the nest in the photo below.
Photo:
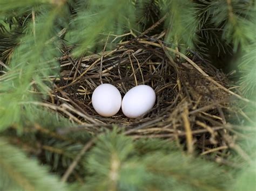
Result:
{"type": "Polygon", "coordinates": [[[59,9],[58,7],[42,12],[38,16],[36,26],[33,26],[33,23],[28,25],[26,35],[21,38],[19,46],[12,54],[10,72],[0,77],[3,91],[0,97],[2,106],[0,108],[0,129],[21,122],[21,114],[26,106],[23,107],[20,102],[35,99],[28,93],[32,85],[31,79],[36,82],[39,91],[44,93],[48,91],[45,83],[42,82],[42,77],[47,78],[49,74],[56,73],[56,70],[50,68],[57,66],[55,58],[59,53],[54,42],[50,43],[49,40],[54,37],[55,30],[59,27],[54,25],[60,12],[59,9]],[[36,39],[32,32],[33,29],[38,32],[36,39]]]}

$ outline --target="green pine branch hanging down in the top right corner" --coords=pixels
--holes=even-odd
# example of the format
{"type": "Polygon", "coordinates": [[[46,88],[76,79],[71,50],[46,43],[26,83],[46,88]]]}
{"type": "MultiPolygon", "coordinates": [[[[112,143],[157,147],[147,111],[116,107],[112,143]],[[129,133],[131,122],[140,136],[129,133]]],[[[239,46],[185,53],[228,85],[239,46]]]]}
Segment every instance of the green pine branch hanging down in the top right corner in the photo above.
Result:
{"type": "Polygon", "coordinates": [[[240,1],[211,1],[211,22],[223,29],[223,38],[232,42],[234,52],[254,40],[255,9],[240,1]]]}

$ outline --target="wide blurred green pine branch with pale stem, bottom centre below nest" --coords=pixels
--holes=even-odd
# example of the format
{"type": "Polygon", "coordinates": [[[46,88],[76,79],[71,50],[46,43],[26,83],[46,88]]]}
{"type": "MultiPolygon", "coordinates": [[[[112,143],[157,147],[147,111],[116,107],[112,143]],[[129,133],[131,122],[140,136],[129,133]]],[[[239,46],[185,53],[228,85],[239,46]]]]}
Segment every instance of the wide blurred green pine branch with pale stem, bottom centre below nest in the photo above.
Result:
{"type": "Polygon", "coordinates": [[[88,190],[224,190],[231,180],[220,167],[182,154],[171,142],[133,142],[116,132],[99,136],[87,168],[88,190]],[[146,152],[139,154],[142,147],[146,152]]]}

